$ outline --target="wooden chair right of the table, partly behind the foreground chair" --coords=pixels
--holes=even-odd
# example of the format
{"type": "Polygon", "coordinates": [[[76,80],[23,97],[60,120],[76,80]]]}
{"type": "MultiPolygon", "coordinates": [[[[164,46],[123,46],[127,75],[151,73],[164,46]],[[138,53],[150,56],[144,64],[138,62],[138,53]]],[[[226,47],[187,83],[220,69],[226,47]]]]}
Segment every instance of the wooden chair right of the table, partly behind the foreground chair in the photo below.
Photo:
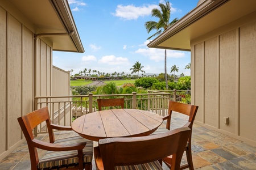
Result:
{"type": "MultiPolygon", "coordinates": [[[[183,127],[188,127],[191,129],[191,134],[189,135],[187,145],[185,147],[186,151],[186,156],[187,156],[187,164],[182,165],[180,169],[194,169],[193,168],[193,160],[192,160],[192,152],[191,152],[191,136],[192,136],[192,128],[193,128],[193,122],[196,117],[196,112],[197,112],[198,106],[196,105],[190,105],[190,104],[184,104],[184,103],[178,103],[175,101],[169,101],[169,107],[168,107],[168,115],[166,117],[163,117],[163,120],[167,120],[166,128],[160,127],[156,129],[154,134],[161,134],[161,133],[166,133],[167,131],[170,131],[171,127],[171,116],[172,116],[172,111],[178,112],[180,114],[185,114],[189,116],[187,124],[185,124],[183,127]]],[[[167,167],[172,166],[172,155],[168,156],[163,159],[163,162],[167,165],[167,167]]]]}

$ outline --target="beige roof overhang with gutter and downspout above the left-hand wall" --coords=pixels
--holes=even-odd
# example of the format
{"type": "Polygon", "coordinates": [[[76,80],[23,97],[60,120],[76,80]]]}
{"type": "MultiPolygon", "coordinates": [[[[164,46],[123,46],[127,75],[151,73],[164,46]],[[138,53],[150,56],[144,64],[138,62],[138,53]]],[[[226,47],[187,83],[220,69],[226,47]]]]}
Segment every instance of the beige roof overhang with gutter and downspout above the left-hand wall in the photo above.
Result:
{"type": "Polygon", "coordinates": [[[53,50],[84,52],[67,0],[7,0],[3,3],[15,18],[51,44],[53,50]]]}

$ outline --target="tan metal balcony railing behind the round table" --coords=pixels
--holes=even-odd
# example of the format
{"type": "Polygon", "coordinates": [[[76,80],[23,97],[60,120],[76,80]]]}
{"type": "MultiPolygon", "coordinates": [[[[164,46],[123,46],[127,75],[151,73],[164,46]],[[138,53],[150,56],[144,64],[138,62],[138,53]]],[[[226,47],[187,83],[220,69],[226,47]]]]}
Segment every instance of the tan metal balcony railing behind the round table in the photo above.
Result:
{"type": "MultiPolygon", "coordinates": [[[[72,120],[84,114],[98,110],[97,99],[125,98],[125,108],[142,109],[166,116],[168,114],[168,101],[182,101],[181,95],[190,91],[148,91],[147,94],[118,94],[118,95],[89,95],[82,96],[40,96],[35,97],[35,110],[47,106],[53,124],[70,126],[72,120]],[[181,97],[180,97],[181,96],[181,97]]],[[[35,129],[37,133],[46,131],[45,125],[35,129]]]]}

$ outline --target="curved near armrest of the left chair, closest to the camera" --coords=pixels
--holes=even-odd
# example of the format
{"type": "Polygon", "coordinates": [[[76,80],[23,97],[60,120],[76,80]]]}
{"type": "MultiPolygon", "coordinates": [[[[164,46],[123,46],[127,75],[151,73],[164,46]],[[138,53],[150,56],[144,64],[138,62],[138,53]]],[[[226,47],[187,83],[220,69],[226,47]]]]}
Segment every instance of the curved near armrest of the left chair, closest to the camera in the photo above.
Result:
{"type": "Polygon", "coordinates": [[[33,139],[32,145],[34,147],[40,148],[42,150],[47,150],[47,151],[71,151],[71,150],[82,150],[85,147],[86,142],[76,143],[74,145],[58,145],[54,143],[39,141],[38,139],[33,139]]]}

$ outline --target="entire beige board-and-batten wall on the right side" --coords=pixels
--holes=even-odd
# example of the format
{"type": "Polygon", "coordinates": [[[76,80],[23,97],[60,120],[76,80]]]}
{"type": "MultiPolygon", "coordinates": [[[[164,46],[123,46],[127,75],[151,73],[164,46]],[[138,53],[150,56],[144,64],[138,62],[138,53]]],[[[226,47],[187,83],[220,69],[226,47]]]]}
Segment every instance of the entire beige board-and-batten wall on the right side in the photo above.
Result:
{"type": "Polygon", "coordinates": [[[256,145],[256,12],[191,41],[196,123],[256,145]],[[224,118],[229,118],[225,124],[224,118]]]}

